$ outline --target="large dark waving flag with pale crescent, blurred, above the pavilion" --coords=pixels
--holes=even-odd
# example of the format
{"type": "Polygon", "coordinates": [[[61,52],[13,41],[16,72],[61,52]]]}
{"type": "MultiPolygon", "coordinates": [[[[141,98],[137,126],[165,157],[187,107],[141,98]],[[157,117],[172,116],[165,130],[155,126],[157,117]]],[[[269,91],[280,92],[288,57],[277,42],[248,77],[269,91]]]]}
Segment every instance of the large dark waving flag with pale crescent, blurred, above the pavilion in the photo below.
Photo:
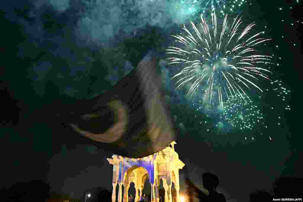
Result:
{"type": "Polygon", "coordinates": [[[105,94],[72,106],[64,123],[83,143],[125,157],[145,157],[175,140],[175,129],[161,91],[156,60],[149,52],[105,94]]]}

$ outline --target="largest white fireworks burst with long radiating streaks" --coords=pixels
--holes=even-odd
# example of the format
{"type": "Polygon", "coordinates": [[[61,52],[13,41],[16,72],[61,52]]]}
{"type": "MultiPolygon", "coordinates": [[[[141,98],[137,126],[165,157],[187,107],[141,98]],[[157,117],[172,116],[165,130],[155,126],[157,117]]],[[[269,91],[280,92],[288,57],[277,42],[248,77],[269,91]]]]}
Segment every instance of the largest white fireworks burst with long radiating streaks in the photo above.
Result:
{"type": "Polygon", "coordinates": [[[270,80],[271,73],[265,65],[273,65],[271,56],[261,55],[256,45],[271,39],[260,38],[264,32],[248,36],[255,23],[251,23],[240,31],[241,17],[236,17],[230,26],[225,15],[222,26],[218,26],[216,14],[211,15],[212,28],[208,27],[201,15],[200,27],[191,22],[194,30],[191,33],[184,25],[186,35],[172,35],[176,42],[184,48],[169,47],[167,54],[176,57],[167,58],[168,65],[185,65],[173,78],[181,76],[176,82],[176,89],[190,84],[188,96],[193,95],[200,86],[203,91],[203,102],[211,100],[218,95],[220,104],[236,94],[248,98],[245,93],[251,86],[262,89],[255,83],[260,78],[270,80]],[[200,31],[199,31],[200,30],[200,31]],[[253,54],[255,53],[255,54],[253,54]],[[193,82],[193,83],[191,83],[193,82]]]}

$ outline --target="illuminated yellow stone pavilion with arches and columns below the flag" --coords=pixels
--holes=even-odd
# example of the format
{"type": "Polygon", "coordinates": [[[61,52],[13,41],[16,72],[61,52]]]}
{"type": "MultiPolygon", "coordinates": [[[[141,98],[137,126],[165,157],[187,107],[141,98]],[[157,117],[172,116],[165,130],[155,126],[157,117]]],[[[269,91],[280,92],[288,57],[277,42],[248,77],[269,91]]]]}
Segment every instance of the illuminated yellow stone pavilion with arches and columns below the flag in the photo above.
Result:
{"type": "MultiPolygon", "coordinates": [[[[118,202],[122,202],[122,199],[127,198],[127,187],[134,183],[136,192],[136,202],[139,199],[139,190],[142,190],[142,185],[145,184],[147,178],[149,178],[149,184],[151,184],[151,201],[158,202],[158,185],[162,184],[165,188],[165,194],[168,195],[167,199],[171,200],[171,186],[177,190],[177,197],[179,192],[179,169],[182,169],[184,163],[179,159],[178,154],[175,152],[174,141],[168,145],[165,149],[142,158],[129,158],[118,155],[113,155],[112,158],[108,158],[108,162],[113,165],[113,180],[112,184],[115,187],[117,183],[119,187],[119,199],[118,202]],[[161,180],[162,179],[162,180],[161,180]],[[162,181],[162,182],[161,182],[162,181]],[[122,189],[125,194],[121,197],[122,189]]],[[[117,186],[116,186],[117,187],[117,186]]],[[[116,188],[115,187],[115,188],[116,188]]],[[[140,192],[141,192],[140,190],[140,192]]],[[[116,189],[113,189],[112,202],[116,201],[116,189]]],[[[123,200],[127,202],[127,200],[123,200]]],[[[170,201],[169,201],[170,202],[170,201]]],[[[180,198],[177,198],[177,202],[180,202],[180,198]]]]}

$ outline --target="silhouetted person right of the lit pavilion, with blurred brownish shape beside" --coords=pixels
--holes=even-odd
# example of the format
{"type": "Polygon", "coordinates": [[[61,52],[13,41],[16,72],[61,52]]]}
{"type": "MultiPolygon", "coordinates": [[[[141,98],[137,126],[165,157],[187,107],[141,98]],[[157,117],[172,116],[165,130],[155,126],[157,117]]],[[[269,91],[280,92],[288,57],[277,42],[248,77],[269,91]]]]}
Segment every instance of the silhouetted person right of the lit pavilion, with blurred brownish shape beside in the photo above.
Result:
{"type": "Polygon", "coordinates": [[[226,202],[226,198],[223,194],[216,191],[219,185],[219,178],[212,173],[205,173],[202,176],[204,189],[199,189],[196,187],[191,180],[187,177],[185,182],[188,185],[188,196],[190,197],[190,202],[193,201],[193,197],[197,197],[199,200],[206,202],[226,202]]]}

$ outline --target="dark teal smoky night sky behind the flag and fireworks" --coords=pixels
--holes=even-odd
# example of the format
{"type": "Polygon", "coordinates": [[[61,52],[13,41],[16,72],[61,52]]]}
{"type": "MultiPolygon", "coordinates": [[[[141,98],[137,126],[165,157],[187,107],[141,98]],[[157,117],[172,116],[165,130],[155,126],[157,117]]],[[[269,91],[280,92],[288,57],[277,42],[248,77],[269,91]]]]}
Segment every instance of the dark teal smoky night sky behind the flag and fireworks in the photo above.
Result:
{"type": "MultiPolygon", "coordinates": [[[[106,160],[112,152],[73,141],[56,120],[57,106],[104,93],[149,50],[158,52],[171,116],[181,129],[175,149],[196,184],[204,172],[214,172],[220,178],[218,191],[235,202],[247,201],[257,189],[271,191],[279,176],[303,177],[301,1],[250,1],[235,11],[244,24],[256,22],[255,32],[265,31],[273,39],[262,51],[281,57],[274,78],[291,90],[291,111],[281,110],[276,98],[268,96],[267,105],[258,106],[275,107],[280,125],[276,117],[265,115],[266,130],[238,131],[225,125],[223,133],[216,130],[215,118],[192,107],[184,89],[174,89],[171,67],[165,65],[170,35],[191,17],[177,15],[169,1],[154,7],[145,0],[88,2],[25,0],[1,7],[1,187],[42,179],[53,191],[74,198],[92,187],[112,191],[112,165],[106,160]]],[[[182,190],[182,171],[180,176],[182,190]]]]}

